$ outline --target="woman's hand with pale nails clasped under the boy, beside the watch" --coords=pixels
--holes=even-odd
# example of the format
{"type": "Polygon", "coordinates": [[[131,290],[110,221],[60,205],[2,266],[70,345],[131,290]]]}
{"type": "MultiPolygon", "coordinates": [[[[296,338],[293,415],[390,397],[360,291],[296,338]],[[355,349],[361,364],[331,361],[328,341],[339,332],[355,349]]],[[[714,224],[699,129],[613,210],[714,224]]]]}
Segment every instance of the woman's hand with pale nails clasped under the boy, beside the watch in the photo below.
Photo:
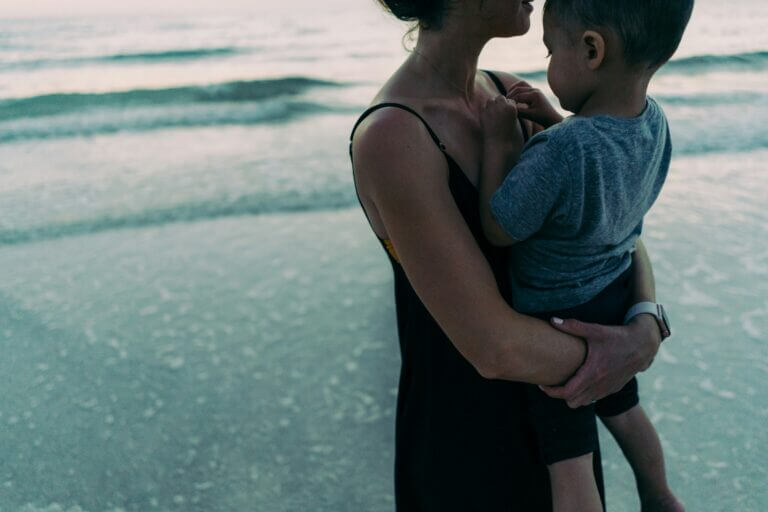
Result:
{"type": "Polygon", "coordinates": [[[650,315],[638,315],[626,326],[578,320],[553,320],[552,325],[587,342],[587,359],[568,382],[559,387],[541,386],[546,394],[562,398],[574,409],[619,391],[651,365],[661,343],[659,325],[650,315]]]}

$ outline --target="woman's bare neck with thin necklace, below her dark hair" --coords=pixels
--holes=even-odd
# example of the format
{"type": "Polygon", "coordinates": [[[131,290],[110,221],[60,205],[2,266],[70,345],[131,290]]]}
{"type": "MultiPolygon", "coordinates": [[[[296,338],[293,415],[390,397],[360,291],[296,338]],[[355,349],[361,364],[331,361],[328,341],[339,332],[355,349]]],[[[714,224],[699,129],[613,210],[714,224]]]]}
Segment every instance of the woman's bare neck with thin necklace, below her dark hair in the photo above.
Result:
{"type": "Polygon", "coordinates": [[[439,96],[461,96],[471,104],[475,97],[477,62],[487,39],[472,38],[450,27],[439,31],[421,30],[411,55],[411,64],[426,77],[439,96]]]}

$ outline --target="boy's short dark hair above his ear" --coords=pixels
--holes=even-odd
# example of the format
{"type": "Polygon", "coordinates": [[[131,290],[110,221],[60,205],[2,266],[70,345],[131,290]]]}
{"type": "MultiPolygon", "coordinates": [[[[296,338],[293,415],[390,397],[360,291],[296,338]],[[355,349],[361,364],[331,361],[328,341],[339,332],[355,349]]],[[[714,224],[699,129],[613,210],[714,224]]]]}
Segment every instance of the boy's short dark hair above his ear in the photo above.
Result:
{"type": "Polygon", "coordinates": [[[608,28],[631,65],[655,69],[677,50],[694,0],[547,0],[544,12],[578,29],[608,28]]]}

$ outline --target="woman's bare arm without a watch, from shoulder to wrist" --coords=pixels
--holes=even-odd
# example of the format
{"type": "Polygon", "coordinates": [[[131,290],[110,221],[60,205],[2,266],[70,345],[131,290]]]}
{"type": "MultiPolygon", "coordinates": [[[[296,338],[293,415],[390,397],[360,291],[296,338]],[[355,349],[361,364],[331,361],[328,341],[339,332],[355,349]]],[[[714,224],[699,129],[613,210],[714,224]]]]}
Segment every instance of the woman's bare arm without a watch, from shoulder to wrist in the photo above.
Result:
{"type": "Polygon", "coordinates": [[[512,310],[448,187],[447,165],[424,127],[399,110],[358,128],[355,179],[373,205],[408,279],[459,352],[487,377],[564,382],[583,341],[512,310]]]}

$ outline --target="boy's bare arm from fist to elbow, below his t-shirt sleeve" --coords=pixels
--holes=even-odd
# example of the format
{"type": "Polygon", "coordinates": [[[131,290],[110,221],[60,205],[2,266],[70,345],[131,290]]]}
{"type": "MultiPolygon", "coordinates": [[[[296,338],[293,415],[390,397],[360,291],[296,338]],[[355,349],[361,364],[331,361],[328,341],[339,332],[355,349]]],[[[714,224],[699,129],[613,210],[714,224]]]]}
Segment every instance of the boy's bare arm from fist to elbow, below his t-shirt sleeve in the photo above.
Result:
{"type": "Polygon", "coordinates": [[[483,156],[478,180],[480,221],[486,238],[499,247],[517,240],[502,229],[491,211],[491,197],[501,187],[510,169],[520,159],[523,132],[514,101],[503,96],[489,100],[482,113],[483,156]]]}

